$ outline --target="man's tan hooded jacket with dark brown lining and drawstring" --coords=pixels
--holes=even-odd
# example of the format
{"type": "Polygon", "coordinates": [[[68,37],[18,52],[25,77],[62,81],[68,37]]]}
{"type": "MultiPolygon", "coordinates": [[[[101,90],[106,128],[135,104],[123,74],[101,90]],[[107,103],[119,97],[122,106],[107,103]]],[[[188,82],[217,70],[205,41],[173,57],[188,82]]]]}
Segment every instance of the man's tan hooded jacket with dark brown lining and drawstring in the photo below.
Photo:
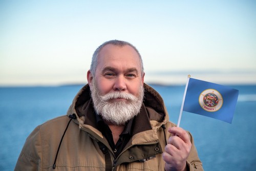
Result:
{"type": "MultiPolygon", "coordinates": [[[[163,99],[144,84],[145,98],[140,114],[134,120],[131,140],[123,152],[114,157],[108,141],[96,129],[90,88],[84,86],[68,110],[75,114],[59,148],[56,168],[53,164],[63,132],[70,118],[60,116],[35,128],[27,138],[15,170],[164,170],[162,153],[170,134],[165,127],[169,122],[163,99]],[[164,135],[165,132],[165,135],[164,135]]],[[[190,134],[189,134],[190,135],[190,134]]],[[[203,170],[193,137],[187,159],[189,170],[203,170]]]]}

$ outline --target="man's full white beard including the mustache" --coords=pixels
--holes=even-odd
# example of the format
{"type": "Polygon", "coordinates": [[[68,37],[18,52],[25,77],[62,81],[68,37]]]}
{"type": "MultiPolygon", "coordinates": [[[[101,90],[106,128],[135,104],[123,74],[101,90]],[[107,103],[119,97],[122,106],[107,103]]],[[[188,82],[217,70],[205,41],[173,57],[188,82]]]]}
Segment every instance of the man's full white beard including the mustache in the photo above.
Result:
{"type": "Polygon", "coordinates": [[[94,80],[90,89],[94,109],[97,115],[100,115],[106,122],[115,125],[124,125],[140,112],[144,96],[143,85],[140,86],[138,97],[120,91],[100,95],[97,83],[94,80]],[[116,98],[123,98],[126,101],[113,101],[116,98]]]}

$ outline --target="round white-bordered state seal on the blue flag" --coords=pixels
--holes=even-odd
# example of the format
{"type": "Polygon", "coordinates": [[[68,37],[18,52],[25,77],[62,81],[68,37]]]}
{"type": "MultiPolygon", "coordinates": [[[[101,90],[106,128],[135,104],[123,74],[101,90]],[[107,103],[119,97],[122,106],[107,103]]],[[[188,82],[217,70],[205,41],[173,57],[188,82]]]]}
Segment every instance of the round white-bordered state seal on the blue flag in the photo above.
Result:
{"type": "Polygon", "coordinates": [[[206,89],[199,96],[199,104],[207,112],[216,112],[222,107],[222,95],[215,89],[206,89]]]}

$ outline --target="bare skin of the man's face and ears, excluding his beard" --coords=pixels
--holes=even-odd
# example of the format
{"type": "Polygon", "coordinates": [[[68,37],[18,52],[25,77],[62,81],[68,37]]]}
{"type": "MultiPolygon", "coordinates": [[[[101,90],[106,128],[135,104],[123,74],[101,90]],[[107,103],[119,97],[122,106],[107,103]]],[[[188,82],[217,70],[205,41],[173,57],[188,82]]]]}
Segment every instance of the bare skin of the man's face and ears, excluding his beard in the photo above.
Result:
{"type": "Polygon", "coordinates": [[[139,56],[132,47],[106,45],[99,52],[95,76],[88,71],[87,79],[90,87],[92,80],[96,81],[101,95],[121,91],[138,96],[144,73],[141,73],[139,56]]]}

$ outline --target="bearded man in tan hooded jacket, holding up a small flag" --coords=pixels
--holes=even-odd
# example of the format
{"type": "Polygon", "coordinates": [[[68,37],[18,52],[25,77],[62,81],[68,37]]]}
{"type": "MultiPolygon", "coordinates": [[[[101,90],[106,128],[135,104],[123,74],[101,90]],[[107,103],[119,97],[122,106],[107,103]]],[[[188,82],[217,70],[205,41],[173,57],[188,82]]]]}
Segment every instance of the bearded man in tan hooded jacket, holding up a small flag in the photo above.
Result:
{"type": "Polygon", "coordinates": [[[70,119],[36,127],[15,170],[203,170],[192,136],[168,121],[163,99],[144,75],[133,45],[102,44],[70,119]]]}

